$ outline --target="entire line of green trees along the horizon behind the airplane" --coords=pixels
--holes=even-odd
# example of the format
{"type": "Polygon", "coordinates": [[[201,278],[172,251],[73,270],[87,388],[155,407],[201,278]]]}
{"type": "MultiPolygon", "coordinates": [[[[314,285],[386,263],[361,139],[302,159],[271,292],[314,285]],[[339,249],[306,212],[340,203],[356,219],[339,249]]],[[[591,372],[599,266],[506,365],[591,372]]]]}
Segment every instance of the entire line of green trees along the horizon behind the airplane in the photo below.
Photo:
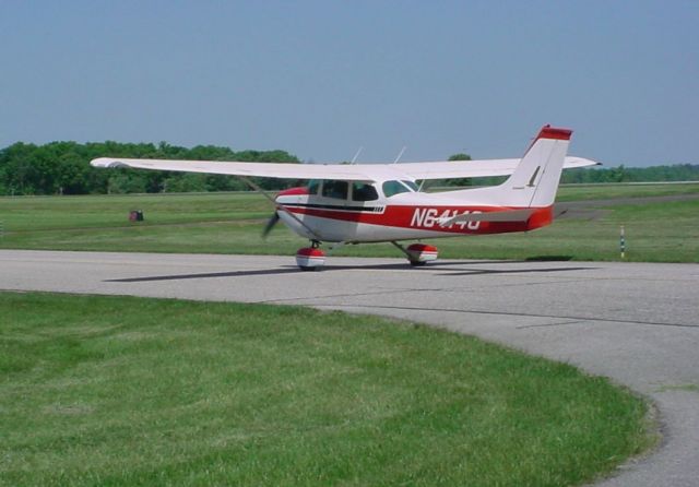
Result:
{"type": "MultiPolygon", "coordinates": [[[[299,163],[285,151],[239,151],[215,145],[192,149],[166,142],[118,143],[51,142],[43,145],[17,142],[0,150],[0,194],[105,194],[190,191],[239,191],[249,189],[240,179],[222,175],[202,175],[134,169],[97,169],[90,165],[95,157],[173,158],[200,161],[245,161],[299,163]]],[[[454,154],[450,161],[467,161],[467,154],[454,154]]],[[[266,190],[298,185],[298,181],[251,178],[266,190]]],[[[452,186],[497,183],[498,178],[452,179],[452,186]]],[[[569,169],[562,182],[640,182],[699,180],[699,165],[664,165],[569,169]]]]}

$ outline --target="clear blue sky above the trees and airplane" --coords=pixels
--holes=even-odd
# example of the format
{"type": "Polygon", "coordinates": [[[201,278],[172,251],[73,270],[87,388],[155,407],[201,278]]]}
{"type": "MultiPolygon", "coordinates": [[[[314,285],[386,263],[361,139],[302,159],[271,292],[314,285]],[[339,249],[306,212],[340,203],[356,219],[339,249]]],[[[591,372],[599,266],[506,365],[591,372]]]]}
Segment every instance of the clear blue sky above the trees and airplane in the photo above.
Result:
{"type": "Polygon", "coordinates": [[[0,1],[0,147],[698,164],[698,1],[0,1]]]}

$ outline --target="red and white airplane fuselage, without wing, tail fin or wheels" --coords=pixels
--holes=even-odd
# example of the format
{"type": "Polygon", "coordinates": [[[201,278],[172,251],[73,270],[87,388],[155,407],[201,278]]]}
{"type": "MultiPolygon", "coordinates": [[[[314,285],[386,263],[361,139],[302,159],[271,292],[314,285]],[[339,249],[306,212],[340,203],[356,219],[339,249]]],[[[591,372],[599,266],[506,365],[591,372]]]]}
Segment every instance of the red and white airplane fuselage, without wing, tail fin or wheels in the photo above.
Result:
{"type": "MultiPolygon", "coordinates": [[[[477,215],[488,212],[518,210],[513,206],[469,204],[464,191],[425,193],[411,181],[404,181],[405,191],[386,197],[382,183],[346,185],[347,192],[323,195],[325,183],[313,181],[309,187],[282,191],[276,197],[281,219],[301,237],[330,242],[379,242],[420,238],[452,237],[455,235],[486,235],[528,231],[550,224],[552,207],[535,209],[521,222],[460,221],[443,223],[458,215],[477,215]],[[354,199],[356,185],[374,189],[371,200],[354,199]],[[459,198],[457,198],[459,195],[459,198]],[[291,213],[291,214],[289,214],[291,213]]],[[[400,181],[390,181],[400,182],[400,181]]],[[[403,186],[403,185],[402,185],[403,186]]],[[[474,190],[466,190],[474,191],[474,190]]]]}

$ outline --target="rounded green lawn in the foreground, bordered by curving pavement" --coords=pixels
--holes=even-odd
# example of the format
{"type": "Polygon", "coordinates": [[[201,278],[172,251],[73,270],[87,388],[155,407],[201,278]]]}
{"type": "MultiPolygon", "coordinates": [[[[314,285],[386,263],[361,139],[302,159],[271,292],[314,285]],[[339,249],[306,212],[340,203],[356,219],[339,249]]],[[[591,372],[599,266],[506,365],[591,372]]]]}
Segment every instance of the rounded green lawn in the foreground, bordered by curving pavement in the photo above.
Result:
{"type": "Polygon", "coordinates": [[[606,379],[298,307],[0,294],[0,485],[576,485],[647,449],[606,379]]]}

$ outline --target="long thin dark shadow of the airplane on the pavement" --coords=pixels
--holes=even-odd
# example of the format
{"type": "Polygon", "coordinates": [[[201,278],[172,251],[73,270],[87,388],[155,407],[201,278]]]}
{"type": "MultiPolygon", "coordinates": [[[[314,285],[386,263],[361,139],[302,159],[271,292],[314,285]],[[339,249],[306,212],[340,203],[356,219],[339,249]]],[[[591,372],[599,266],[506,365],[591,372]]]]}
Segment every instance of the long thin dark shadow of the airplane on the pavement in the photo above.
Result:
{"type": "MultiPolygon", "coordinates": [[[[525,273],[552,273],[562,271],[587,271],[595,268],[580,268],[580,266],[566,266],[566,268],[546,268],[546,269],[463,269],[463,265],[490,265],[490,264],[512,264],[512,263],[531,263],[531,261],[463,261],[463,262],[430,262],[424,268],[413,268],[406,263],[390,263],[390,264],[370,264],[370,265],[325,265],[320,272],[333,272],[333,271],[412,271],[422,272],[435,270],[438,268],[441,276],[459,276],[459,275],[486,275],[486,274],[525,274],[525,273]],[[454,268],[453,265],[460,265],[454,268]]],[[[220,278],[220,277],[246,277],[256,275],[281,275],[281,274],[297,274],[300,271],[295,265],[286,265],[276,269],[257,269],[250,271],[230,271],[230,272],[206,272],[196,274],[171,274],[171,275],[153,275],[142,277],[126,277],[118,280],[106,280],[106,283],[147,283],[155,281],[182,281],[182,280],[198,280],[198,278],[220,278]]]]}

